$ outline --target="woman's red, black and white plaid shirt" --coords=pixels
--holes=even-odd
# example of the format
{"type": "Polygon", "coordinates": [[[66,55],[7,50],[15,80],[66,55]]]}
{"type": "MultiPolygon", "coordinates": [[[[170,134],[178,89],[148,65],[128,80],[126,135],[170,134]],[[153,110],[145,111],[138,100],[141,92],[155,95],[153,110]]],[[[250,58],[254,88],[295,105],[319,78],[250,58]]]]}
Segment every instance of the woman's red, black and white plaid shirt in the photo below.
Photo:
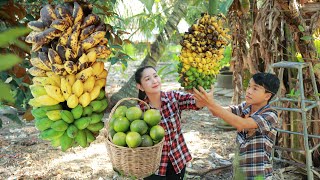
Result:
{"type": "MultiPolygon", "coordinates": [[[[153,108],[149,99],[144,99],[153,108]]],[[[142,110],[147,110],[144,103],[139,103],[142,110]]],[[[180,173],[185,164],[192,159],[181,132],[181,111],[199,110],[193,95],[179,91],[161,92],[161,122],[165,129],[165,141],[162,149],[160,167],[156,175],[165,176],[167,164],[171,161],[176,173],[180,173]]]]}

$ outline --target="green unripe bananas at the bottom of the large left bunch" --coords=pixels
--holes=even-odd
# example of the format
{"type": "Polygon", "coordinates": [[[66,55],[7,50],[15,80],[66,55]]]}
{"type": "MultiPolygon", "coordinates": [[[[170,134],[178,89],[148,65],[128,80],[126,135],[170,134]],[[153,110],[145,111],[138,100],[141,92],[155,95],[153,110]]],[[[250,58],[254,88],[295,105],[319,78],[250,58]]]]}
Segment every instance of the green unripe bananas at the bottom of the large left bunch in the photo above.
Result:
{"type": "Polygon", "coordinates": [[[35,117],[36,128],[41,131],[40,138],[66,151],[78,145],[88,147],[95,140],[104,127],[102,118],[107,106],[105,92],[101,90],[86,107],[79,104],[67,110],[63,104],[56,104],[34,108],[31,113],[35,117]]]}

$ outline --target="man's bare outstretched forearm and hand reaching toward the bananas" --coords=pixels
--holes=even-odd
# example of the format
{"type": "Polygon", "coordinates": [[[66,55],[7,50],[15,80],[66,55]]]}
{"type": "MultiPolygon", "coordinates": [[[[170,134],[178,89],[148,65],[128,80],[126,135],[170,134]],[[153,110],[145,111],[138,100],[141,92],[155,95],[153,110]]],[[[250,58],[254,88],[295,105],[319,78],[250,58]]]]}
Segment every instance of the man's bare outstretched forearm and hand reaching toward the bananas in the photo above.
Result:
{"type": "Polygon", "coordinates": [[[210,92],[206,92],[202,87],[199,87],[200,92],[195,88],[193,90],[195,99],[207,106],[212,115],[223,119],[237,128],[238,131],[258,128],[257,123],[252,118],[242,118],[233,114],[230,107],[224,108],[217,104],[213,99],[213,86],[211,86],[210,92]]]}

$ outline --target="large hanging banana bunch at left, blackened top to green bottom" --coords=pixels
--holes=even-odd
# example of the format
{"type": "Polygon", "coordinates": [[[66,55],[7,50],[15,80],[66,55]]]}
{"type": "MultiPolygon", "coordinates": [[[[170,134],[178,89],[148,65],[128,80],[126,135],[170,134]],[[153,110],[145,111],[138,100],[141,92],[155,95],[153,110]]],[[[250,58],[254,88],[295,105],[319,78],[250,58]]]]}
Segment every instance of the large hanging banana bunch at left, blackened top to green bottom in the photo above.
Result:
{"type": "Polygon", "coordinates": [[[30,90],[35,126],[40,138],[52,146],[87,147],[104,127],[108,106],[104,86],[111,54],[106,26],[89,6],[77,2],[45,5],[40,18],[28,23],[33,31],[28,72],[34,76],[30,90]]]}

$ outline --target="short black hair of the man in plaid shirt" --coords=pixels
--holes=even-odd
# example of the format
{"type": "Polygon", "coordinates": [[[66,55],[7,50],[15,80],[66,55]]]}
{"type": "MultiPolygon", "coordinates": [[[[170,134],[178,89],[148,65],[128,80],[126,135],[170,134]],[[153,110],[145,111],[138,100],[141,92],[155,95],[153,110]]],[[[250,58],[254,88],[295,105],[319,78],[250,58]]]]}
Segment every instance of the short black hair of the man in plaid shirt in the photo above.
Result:
{"type": "Polygon", "coordinates": [[[256,73],[252,76],[252,79],[256,84],[263,86],[267,92],[272,94],[270,99],[277,94],[280,87],[280,81],[276,75],[271,73],[256,73]]]}

